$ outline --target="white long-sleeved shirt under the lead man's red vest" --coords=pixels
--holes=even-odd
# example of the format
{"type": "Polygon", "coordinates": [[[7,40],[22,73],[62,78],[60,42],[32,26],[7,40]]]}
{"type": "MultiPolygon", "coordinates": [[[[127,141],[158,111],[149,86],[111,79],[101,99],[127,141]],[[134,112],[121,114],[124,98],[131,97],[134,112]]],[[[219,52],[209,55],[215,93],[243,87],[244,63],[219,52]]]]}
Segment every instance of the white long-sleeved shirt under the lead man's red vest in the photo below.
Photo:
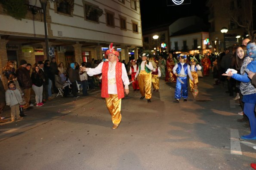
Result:
{"type": "MultiPolygon", "coordinates": [[[[99,65],[96,68],[89,68],[86,70],[87,75],[93,76],[93,75],[99,75],[102,73],[102,66],[103,63],[99,63],[99,65]]],[[[116,64],[117,62],[108,62],[108,94],[117,94],[117,84],[116,84],[116,64]]],[[[125,85],[125,89],[129,89],[128,85],[130,84],[129,78],[127,76],[127,72],[125,69],[124,64],[122,63],[122,80],[123,84],[125,85]]]]}

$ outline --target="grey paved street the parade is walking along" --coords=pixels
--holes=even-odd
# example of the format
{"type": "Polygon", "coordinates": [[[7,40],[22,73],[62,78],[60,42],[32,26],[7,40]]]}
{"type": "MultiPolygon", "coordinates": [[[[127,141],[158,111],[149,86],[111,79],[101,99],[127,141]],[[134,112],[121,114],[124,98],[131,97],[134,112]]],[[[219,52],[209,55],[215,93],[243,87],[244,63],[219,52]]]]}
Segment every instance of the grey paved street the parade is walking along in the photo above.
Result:
{"type": "Polygon", "coordinates": [[[99,89],[55,98],[0,124],[0,170],[250,170],[256,141],[239,139],[241,107],[213,83],[199,78],[197,99],[179,104],[163,79],[152,103],[130,86],[115,130],[99,89]]]}

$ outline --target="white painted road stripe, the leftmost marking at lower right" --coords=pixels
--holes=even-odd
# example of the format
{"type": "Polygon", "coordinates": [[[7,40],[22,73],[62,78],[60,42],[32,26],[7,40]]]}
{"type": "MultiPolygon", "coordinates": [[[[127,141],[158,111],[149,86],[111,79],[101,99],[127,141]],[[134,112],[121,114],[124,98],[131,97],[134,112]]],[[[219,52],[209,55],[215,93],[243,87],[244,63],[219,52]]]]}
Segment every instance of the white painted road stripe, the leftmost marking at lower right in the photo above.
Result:
{"type": "Polygon", "coordinates": [[[238,129],[230,129],[230,153],[242,155],[238,129]]]}

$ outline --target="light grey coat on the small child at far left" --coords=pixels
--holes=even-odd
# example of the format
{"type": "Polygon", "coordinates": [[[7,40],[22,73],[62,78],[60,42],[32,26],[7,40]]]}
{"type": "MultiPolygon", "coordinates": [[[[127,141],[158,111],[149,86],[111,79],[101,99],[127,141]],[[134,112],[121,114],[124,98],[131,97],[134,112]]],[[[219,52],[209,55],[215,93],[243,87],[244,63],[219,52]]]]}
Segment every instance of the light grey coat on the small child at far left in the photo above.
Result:
{"type": "Polygon", "coordinates": [[[5,92],[6,105],[14,106],[16,104],[22,104],[22,96],[18,89],[10,90],[7,89],[5,92]]]}

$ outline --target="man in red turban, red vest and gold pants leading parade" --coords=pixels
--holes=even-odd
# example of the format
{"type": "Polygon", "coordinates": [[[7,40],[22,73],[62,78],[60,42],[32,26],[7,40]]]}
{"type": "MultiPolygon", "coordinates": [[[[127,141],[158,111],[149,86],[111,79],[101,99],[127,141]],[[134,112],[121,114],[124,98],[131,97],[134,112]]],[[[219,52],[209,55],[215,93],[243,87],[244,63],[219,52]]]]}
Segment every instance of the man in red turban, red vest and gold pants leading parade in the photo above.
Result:
{"type": "Polygon", "coordinates": [[[92,68],[84,68],[87,75],[99,75],[102,73],[102,98],[105,98],[106,105],[113,122],[112,129],[116,129],[121,122],[121,100],[129,93],[130,84],[127,72],[123,63],[118,62],[119,52],[114,50],[113,43],[109,45],[106,51],[108,61],[99,63],[92,68]],[[124,89],[123,89],[124,84],[124,89]]]}

